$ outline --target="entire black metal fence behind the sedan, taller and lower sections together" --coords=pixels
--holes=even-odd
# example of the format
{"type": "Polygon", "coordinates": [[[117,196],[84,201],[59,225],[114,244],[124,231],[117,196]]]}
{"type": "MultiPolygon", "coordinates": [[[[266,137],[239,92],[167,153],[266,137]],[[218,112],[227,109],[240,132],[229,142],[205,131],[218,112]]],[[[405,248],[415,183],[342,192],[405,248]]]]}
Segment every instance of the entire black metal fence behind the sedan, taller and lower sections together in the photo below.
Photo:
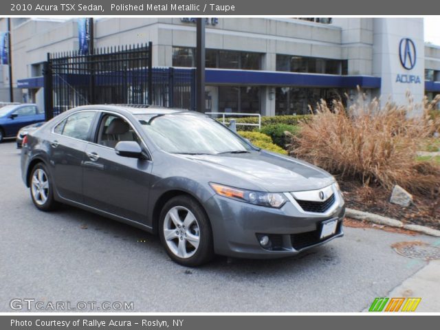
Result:
{"type": "Polygon", "coordinates": [[[45,112],[50,119],[86,104],[156,104],[196,109],[195,69],[152,67],[151,43],[94,54],[47,54],[45,112]]]}

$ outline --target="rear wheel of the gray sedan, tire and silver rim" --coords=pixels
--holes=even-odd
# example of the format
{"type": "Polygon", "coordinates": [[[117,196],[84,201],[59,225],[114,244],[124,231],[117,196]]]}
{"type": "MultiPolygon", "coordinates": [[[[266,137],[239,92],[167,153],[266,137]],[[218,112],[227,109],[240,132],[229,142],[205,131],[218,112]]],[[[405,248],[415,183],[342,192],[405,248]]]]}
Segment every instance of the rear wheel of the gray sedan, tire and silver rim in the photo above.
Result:
{"type": "Polygon", "coordinates": [[[58,206],[54,200],[52,178],[43,163],[36,164],[30,175],[30,196],[36,208],[52,211],[58,206]]]}

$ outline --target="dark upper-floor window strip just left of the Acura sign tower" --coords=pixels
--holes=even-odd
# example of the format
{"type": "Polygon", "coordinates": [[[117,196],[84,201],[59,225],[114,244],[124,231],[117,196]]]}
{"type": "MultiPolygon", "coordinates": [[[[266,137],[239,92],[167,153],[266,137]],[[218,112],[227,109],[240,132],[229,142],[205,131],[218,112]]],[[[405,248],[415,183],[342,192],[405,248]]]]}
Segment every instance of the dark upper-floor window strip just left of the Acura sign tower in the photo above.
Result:
{"type": "Polygon", "coordinates": [[[276,71],[347,75],[348,61],[277,54],[276,71]]]}

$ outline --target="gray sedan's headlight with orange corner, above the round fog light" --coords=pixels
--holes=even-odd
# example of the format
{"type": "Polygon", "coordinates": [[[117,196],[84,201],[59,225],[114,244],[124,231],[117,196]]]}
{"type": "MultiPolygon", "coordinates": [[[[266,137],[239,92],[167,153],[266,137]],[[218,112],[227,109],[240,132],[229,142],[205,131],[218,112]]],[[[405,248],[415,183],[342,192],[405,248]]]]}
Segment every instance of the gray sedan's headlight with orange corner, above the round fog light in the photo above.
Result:
{"type": "Polygon", "coordinates": [[[253,190],[243,190],[239,188],[232,188],[222,186],[221,184],[210,183],[212,189],[217,192],[217,195],[238,199],[259,206],[267,206],[270,208],[281,208],[287,201],[284,194],[280,192],[261,192],[253,190]]]}

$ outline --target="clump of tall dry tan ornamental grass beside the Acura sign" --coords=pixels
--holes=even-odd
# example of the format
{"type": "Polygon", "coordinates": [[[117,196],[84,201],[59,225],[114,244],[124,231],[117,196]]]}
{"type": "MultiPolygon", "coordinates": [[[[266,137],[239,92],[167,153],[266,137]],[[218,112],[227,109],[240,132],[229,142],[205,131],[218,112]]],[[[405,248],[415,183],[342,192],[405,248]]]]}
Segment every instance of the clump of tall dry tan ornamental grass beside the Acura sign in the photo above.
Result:
{"type": "Polygon", "coordinates": [[[316,115],[300,122],[300,135],[289,135],[289,153],[325,168],[333,175],[359,179],[366,186],[390,189],[395,184],[412,192],[432,193],[440,185],[440,168],[434,162],[417,162],[416,151],[432,136],[438,122],[428,113],[434,107],[423,100],[397,107],[360,93],[349,109],[334,101],[317,105],[316,115]]]}

